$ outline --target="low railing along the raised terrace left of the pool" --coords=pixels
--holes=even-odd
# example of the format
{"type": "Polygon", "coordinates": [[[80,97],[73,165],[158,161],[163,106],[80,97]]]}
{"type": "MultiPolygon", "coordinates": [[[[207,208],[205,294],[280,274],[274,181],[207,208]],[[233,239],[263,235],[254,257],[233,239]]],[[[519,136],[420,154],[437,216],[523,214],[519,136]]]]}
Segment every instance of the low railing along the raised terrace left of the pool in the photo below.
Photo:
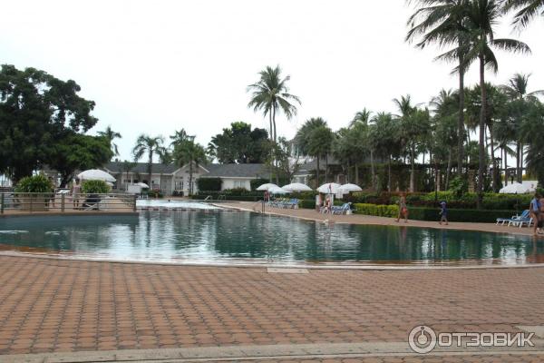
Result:
{"type": "Polygon", "coordinates": [[[136,195],[111,193],[0,192],[0,214],[7,212],[136,211],[136,195]]]}

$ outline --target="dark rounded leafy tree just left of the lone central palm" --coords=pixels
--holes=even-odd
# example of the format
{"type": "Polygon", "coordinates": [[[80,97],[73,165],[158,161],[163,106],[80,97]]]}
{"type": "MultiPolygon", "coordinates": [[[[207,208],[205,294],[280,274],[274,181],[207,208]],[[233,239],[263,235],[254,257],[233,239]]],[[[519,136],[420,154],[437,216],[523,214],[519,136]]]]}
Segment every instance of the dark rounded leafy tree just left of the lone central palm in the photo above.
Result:
{"type": "Polygon", "coordinates": [[[221,163],[262,163],[270,155],[270,142],[265,129],[251,130],[249,123],[231,123],[211,138],[209,154],[221,163]]]}

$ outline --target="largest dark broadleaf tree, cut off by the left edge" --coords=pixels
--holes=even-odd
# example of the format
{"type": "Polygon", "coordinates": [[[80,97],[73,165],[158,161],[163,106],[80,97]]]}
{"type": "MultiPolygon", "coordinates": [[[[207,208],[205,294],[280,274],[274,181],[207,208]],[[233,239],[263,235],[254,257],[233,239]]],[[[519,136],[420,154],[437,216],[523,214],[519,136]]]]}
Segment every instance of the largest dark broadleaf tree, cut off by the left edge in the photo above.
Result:
{"type": "Polygon", "coordinates": [[[94,103],[80,86],[35,68],[0,70],[0,173],[13,182],[49,162],[67,131],[87,132],[97,123],[94,103]]]}

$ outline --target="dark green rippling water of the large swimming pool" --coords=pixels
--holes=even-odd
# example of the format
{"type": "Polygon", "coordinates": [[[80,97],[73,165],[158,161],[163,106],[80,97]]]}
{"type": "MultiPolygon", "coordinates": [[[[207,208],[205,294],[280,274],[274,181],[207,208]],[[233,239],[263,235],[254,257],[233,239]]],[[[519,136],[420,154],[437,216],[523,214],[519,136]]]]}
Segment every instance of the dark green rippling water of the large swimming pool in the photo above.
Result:
{"type": "Polygon", "coordinates": [[[328,225],[249,212],[145,211],[140,216],[0,220],[0,246],[114,260],[350,263],[544,261],[528,236],[397,226],[328,225]]]}

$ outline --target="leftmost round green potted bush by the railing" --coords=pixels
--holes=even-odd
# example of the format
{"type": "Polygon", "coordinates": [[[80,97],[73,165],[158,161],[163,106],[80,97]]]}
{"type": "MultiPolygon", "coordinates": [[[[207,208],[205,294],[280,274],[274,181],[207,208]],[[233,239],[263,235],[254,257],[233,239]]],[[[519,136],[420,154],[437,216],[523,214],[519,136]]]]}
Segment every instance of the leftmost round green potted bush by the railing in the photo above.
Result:
{"type": "Polygon", "coordinates": [[[53,182],[40,174],[21,179],[15,186],[15,195],[22,211],[48,211],[53,190],[53,182]]]}

